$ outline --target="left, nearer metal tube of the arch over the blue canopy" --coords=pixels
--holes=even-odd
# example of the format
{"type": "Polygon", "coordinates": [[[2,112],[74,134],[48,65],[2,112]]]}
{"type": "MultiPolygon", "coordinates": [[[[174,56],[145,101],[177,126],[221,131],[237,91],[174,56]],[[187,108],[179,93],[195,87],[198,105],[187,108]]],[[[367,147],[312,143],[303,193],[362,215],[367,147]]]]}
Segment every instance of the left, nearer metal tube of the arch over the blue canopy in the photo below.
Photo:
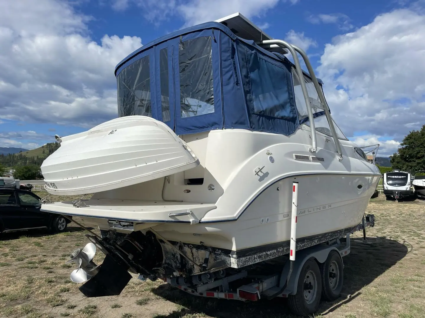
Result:
{"type": "Polygon", "coordinates": [[[301,69],[300,60],[298,59],[296,50],[294,49],[294,47],[291,44],[289,44],[288,42],[283,41],[283,40],[264,40],[264,41],[259,41],[259,42],[256,42],[256,43],[258,45],[277,44],[280,47],[284,47],[284,48],[288,49],[289,52],[291,52],[292,57],[294,58],[295,71],[297,72],[298,78],[300,78],[301,90],[303,91],[304,100],[306,101],[307,114],[309,116],[310,128],[312,130],[312,133],[311,133],[311,135],[312,135],[311,136],[312,137],[312,147],[309,150],[310,150],[310,152],[316,152],[317,151],[317,141],[316,141],[316,128],[314,126],[313,112],[312,112],[312,108],[309,106],[310,101],[309,101],[309,94],[307,92],[306,82],[301,80],[301,79],[304,78],[303,77],[304,75],[303,75],[303,70],[301,69]]]}

